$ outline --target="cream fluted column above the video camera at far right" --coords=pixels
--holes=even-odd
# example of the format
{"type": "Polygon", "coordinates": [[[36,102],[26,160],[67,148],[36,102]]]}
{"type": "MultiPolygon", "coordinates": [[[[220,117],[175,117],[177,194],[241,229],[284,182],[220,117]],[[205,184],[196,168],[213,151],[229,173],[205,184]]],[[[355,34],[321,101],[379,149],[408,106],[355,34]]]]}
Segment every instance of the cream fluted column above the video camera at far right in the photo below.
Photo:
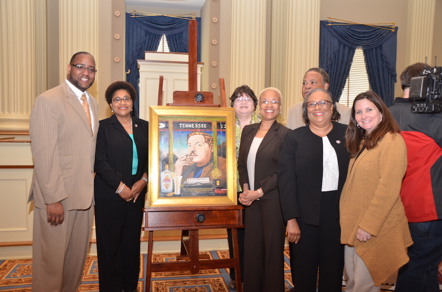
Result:
{"type": "Polygon", "coordinates": [[[409,0],[408,2],[408,33],[407,33],[407,65],[430,60],[433,48],[433,29],[436,0],[409,0]]]}

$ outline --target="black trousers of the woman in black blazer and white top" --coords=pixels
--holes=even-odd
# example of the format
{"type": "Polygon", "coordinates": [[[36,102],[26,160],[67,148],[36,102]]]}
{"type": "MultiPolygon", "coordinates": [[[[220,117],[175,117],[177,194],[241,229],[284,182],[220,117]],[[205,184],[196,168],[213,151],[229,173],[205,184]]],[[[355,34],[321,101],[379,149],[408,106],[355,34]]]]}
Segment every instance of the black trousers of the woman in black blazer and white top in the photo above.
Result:
{"type": "Polygon", "coordinates": [[[344,269],[344,245],[340,243],[341,229],[336,219],[337,191],[321,196],[319,226],[297,220],[301,238],[290,243],[290,265],[296,292],[341,292],[344,269]]]}

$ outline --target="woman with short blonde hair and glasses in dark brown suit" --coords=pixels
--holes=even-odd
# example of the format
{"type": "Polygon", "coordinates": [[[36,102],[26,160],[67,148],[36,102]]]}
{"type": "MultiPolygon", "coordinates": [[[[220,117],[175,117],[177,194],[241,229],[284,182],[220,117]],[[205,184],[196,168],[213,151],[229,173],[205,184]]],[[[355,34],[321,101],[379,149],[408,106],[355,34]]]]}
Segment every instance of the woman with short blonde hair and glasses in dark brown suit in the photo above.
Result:
{"type": "Polygon", "coordinates": [[[246,125],[241,135],[238,171],[246,206],[244,254],[245,292],[284,291],[284,236],[276,167],[284,136],[290,131],[276,122],[282,96],[269,87],[259,95],[260,123],[246,125]]]}

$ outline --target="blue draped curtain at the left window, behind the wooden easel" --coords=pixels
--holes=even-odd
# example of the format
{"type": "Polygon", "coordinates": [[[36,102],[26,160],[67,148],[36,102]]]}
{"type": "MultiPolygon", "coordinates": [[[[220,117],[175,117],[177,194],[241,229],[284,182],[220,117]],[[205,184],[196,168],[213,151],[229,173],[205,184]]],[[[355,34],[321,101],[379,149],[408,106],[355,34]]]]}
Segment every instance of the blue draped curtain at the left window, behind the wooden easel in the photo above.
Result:
{"type": "MultiPolygon", "coordinates": [[[[198,62],[200,61],[201,18],[198,24],[198,62]]],[[[165,34],[171,52],[189,52],[189,20],[166,16],[131,17],[126,13],[126,74],[139,97],[138,59],[144,59],[144,51],[155,51],[165,34]]],[[[138,117],[139,98],[134,103],[134,115],[138,117]]]]}

